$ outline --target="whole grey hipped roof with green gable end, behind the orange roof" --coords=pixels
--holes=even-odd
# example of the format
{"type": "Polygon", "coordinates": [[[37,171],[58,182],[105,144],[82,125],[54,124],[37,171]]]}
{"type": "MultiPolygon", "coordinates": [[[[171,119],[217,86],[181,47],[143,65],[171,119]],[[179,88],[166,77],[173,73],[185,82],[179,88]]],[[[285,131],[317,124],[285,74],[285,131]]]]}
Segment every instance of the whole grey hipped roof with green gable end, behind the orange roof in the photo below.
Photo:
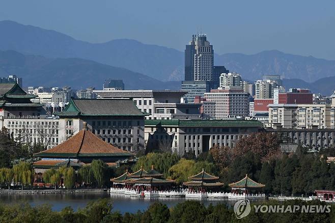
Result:
{"type": "Polygon", "coordinates": [[[130,99],[71,99],[60,117],[146,116],[130,99]]]}

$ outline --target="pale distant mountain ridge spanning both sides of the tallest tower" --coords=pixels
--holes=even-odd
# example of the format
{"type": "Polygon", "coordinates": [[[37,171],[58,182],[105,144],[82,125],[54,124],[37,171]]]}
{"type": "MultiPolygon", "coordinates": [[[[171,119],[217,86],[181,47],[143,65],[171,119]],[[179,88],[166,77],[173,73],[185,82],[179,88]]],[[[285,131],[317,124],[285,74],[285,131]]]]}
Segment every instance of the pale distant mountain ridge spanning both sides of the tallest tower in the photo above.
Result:
{"type": "MultiPolygon", "coordinates": [[[[47,58],[82,58],[126,68],[159,80],[184,78],[184,52],[176,49],[128,39],[94,44],[13,21],[0,21],[0,32],[0,50],[16,50],[47,58]]],[[[302,57],[277,50],[252,55],[215,55],[214,65],[225,65],[227,69],[241,73],[244,79],[252,80],[261,78],[263,74],[281,74],[287,79],[298,78],[306,82],[335,76],[335,61],[302,57]]]]}

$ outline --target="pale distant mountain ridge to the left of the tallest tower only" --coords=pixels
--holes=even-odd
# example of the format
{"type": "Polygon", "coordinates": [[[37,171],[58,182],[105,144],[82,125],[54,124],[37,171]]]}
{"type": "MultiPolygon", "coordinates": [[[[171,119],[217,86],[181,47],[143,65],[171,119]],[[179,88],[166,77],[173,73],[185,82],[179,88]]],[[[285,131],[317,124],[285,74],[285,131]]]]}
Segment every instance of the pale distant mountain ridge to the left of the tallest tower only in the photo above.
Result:
{"type": "Polygon", "coordinates": [[[120,39],[93,44],[32,25],[0,21],[0,50],[47,58],[82,58],[122,67],[159,80],[183,78],[184,54],[176,49],[120,39]]]}

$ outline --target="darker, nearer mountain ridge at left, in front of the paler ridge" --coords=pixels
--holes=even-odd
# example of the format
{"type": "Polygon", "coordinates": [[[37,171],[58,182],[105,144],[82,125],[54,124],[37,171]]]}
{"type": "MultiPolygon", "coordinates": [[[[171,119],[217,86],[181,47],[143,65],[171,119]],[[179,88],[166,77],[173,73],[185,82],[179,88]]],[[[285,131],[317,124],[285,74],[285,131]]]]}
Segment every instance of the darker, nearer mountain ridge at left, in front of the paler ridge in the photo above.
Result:
{"type": "Polygon", "coordinates": [[[78,58],[49,59],[0,50],[0,76],[16,74],[23,86],[71,86],[102,89],[107,78],[123,79],[126,89],[179,89],[180,81],[163,82],[130,70],[78,58]]]}

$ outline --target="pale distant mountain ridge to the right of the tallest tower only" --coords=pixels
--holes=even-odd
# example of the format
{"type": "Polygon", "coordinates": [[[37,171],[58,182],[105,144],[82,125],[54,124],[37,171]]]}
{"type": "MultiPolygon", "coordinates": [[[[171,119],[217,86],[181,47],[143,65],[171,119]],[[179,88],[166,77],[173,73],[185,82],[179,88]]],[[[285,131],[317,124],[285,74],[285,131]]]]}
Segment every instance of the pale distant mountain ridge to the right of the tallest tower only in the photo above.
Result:
{"type": "Polygon", "coordinates": [[[282,78],[299,78],[312,82],[322,77],[335,76],[335,61],[303,57],[278,50],[245,55],[226,53],[215,58],[230,71],[241,73],[247,79],[259,79],[263,74],[280,74],[282,78]]]}

